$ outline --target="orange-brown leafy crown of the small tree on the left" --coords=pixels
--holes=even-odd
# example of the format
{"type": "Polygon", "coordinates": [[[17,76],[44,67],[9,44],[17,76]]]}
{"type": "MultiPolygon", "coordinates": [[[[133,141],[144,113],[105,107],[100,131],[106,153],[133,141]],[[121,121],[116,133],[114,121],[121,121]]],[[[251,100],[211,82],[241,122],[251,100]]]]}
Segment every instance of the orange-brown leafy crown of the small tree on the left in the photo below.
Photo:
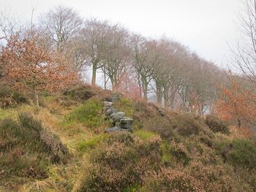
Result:
{"type": "Polygon", "coordinates": [[[4,80],[23,91],[56,92],[78,80],[69,60],[48,50],[38,34],[10,37],[1,49],[0,62],[4,80]]]}

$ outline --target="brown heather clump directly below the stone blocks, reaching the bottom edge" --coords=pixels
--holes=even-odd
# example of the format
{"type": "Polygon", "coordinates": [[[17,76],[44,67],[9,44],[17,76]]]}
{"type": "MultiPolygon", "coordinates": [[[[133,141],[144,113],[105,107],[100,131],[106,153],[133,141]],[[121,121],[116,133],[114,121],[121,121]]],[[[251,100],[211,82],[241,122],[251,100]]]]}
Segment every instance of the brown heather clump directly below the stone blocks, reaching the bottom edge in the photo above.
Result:
{"type": "Polygon", "coordinates": [[[143,141],[131,134],[111,134],[91,153],[91,166],[79,191],[122,191],[143,184],[143,174],[158,169],[159,137],[143,141]]]}

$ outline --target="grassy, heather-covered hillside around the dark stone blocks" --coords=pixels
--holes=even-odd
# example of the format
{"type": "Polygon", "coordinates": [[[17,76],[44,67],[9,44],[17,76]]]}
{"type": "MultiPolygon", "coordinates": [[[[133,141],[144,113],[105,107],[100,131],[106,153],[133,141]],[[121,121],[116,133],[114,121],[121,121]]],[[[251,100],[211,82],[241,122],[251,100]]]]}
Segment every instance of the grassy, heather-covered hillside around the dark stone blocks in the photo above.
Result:
{"type": "Polygon", "coordinates": [[[105,134],[110,91],[0,91],[0,191],[256,191],[256,139],[214,116],[121,96],[133,132],[105,134]]]}

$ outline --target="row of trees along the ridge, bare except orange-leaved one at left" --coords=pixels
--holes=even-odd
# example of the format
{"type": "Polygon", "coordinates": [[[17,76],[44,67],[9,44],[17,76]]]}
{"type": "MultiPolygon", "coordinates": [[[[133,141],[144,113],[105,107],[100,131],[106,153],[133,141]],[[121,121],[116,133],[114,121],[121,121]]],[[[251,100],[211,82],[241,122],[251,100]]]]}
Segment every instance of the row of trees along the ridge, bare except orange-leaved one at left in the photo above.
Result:
{"type": "Polygon", "coordinates": [[[97,72],[102,72],[104,88],[110,84],[114,91],[127,96],[146,101],[150,98],[173,110],[203,115],[211,110],[218,96],[217,85],[225,78],[214,63],[200,58],[180,42],[167,37],[142,37],[118,23],[83,19],[68,7],[55,7],[41,15],[37,23],[23,26],[2,14],[0,26],[2,39],[7,40],[1,48],[1,77],[24,82],[30,76],[27,85],[33,85],[32,89],[39,87],[37,91],[47,89],[53,82],[60,83],[60,88],[75,82],[71,72],[84,80],[85,70],[91,66],[91,85],[96,85],[97,72]],[[24,54],[29,49],[34,55],[24,54]],[[15,60],[10,59],[11,54],[15,60]],[[34,68],[26,68],[26,59],[34,68]],[[52,67],[47,68],[48,64],[52,67]],[[61,68],[62,64],[65,67],[61,68]],[[11,69],[16,69],[15,75],[11,69]],[[38,77],[23,73],[20,77],[18,74],[26,69],[41,73],[38,77]],[[55,76],[45,75],[47,70],[54,71],[55,76]]]}

